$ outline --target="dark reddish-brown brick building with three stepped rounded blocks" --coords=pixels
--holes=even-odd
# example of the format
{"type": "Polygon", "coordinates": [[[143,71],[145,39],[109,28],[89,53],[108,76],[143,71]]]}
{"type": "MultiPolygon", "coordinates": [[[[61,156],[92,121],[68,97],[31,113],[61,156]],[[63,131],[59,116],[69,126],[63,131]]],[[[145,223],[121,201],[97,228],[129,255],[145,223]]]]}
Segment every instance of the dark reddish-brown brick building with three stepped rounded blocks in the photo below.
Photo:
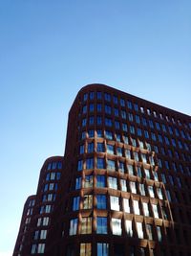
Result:
{"type": "Polygon", "coordinates": [[[90,84],[47,159],[13,256],[191,256],[191,117],[90,84]]]}

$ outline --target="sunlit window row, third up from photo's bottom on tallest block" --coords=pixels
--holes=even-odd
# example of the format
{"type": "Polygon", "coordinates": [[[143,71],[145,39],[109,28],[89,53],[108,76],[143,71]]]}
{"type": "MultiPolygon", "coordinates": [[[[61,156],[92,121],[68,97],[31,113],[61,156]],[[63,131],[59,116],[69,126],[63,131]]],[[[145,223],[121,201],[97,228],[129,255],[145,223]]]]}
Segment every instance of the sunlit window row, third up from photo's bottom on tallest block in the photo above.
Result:
{"type": "MultiPolygon", "coordinates": [[[[80,209],[93,208],[93,195],[85,195],[83,198],[74,197],[72,203],[72,210],[78,211],[80,209]]],[[[124,211],[129,214],[142,215],[146,217],[153,217],[167,220],[168,213],[164,206],[161,209],[158,204],[150,202],[140,202],[136,199],[119,198],[115,196],[96,195],[95,207],[97,209],[108,209],[115,211],[124,211]],[[109,202],[107,202],[109,200],[109,202]],[[109,203],[109,204],[108,204],[109,203]],[[160,209],[160,210],[159,210],[160,209]]]]}

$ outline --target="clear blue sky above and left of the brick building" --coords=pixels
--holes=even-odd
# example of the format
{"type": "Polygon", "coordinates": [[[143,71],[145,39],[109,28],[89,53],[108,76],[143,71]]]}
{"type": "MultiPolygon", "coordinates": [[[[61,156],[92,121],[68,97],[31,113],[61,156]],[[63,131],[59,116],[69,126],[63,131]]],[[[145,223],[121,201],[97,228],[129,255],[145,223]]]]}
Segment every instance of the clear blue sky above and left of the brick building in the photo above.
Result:
{"type": "Polygon", "coordinates": [[[100,82],[190,115],[191,1],[0,1],[0,256],[77,91],[100,82]]]}

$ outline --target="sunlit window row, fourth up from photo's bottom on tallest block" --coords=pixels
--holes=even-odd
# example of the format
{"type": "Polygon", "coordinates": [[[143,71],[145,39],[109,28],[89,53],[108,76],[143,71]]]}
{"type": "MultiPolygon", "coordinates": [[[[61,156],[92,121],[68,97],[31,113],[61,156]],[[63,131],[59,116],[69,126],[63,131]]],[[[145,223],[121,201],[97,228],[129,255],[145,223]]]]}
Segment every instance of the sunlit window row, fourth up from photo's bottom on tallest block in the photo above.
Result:
{"type": "MultiPolygon", "coordinates": [[[[110,188],[120,190],[124,192],[131,192],[141,196],[148,196],[151,198],[164,199],[164,193],[161,188],[156,186],[149,186],[145,183],[139,183],[136,181],[126,180],[123,178],[117,179],[117,177],[105,175],[96,175],[96,188],[110,188]],[[107,183],[106,183],[107,182],[107,183]]],[[[78,190],[81,188],[93,188],[94,187],[94,176],[85,175],[85,178],[76,177],[74,189],[78,190]]]]}

